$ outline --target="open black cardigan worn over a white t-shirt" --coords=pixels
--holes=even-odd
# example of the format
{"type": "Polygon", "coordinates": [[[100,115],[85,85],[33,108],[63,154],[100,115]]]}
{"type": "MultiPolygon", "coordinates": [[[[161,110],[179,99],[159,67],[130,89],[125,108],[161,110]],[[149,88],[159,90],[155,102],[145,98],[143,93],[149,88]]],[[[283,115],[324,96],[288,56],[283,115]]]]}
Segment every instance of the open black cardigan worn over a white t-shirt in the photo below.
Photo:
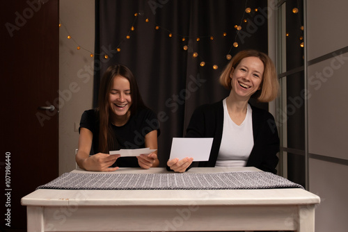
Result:
{"type": "MultiPolygon", "coordinates": [[[[253,113],[254,146],[246,163],[247,167],[257,167],[264,172],[276,174],[277,153],[280,141],[273,115],[266,110],[251,106],[253,113]]],[[[198,162],[198,167],[215,167],[223,132],[223,102],[199,106],[193,112],[187,138],[214,138],[208,161],[198,162]]],[[[195,162],[193,162],[195,163],[195,162]]],[[[197,165],[197,164],[196,164],[197,165]]],[[[193,166],[196,166],[193,164],[193,166]]],[[[191,165],[192,166],[192,165],[191,165]]]]}

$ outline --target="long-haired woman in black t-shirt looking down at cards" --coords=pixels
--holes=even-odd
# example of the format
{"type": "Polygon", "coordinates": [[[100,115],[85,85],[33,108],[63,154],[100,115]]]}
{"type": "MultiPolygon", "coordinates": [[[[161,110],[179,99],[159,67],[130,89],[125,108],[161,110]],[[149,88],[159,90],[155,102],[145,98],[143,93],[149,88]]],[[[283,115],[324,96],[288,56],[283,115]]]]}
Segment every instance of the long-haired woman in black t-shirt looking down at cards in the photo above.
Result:
{"type": "Polygon", "coordinates": [[[137,157],[110,155],[119,149],[157,149],[159,121],[145,106],[132,72],[123,65],[109,67],[100,83],[98,108],[81,116],[76,162],[88,171],[118,167],[157,167],[157,151],[137,157]]]}

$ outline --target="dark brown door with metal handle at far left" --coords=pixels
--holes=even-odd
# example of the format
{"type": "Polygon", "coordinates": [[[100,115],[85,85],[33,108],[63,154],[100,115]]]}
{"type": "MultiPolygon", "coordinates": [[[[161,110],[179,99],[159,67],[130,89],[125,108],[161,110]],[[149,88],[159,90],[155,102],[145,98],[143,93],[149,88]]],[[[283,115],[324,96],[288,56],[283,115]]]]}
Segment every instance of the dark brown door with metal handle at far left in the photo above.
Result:
{"type": "Polygon", "coordinates": [[[59,7],[58,0],[2,4],[1,231],[26,231],[21,198],[58,176],[59,7]]]}

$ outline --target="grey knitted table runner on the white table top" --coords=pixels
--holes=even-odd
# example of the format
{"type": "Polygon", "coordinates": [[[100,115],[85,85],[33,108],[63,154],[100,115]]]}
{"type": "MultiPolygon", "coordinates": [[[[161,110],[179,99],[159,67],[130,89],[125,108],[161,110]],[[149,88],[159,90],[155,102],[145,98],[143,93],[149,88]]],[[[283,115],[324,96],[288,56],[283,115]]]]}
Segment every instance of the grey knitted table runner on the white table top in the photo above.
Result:
{"type": "Polygon", "coordinates": [[[65,173],[37,189],[61,190],[237,190],[303,188],[270,172],[82,174],[65,173]]]}

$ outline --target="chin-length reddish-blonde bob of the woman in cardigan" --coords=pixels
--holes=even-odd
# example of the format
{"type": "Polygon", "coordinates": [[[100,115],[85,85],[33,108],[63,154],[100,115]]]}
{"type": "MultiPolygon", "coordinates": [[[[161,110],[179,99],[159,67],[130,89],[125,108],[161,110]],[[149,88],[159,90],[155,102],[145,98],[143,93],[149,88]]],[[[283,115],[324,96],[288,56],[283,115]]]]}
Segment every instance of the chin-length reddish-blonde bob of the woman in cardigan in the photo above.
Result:
{"type": "Polygon", "coordinates": [[[230,63],[223,70],[219,82],[223,87],[228,90],[232,89],[231,85],[231,72],[239,65],[241,60],[247,57],[258,57],[262,61],[264,65],[264,72],[262,75],[262,82],[260,84],[260,90],[256,91],[251,97],[257,99],[260,102],[269,102],[274,100],[278,95],[279,83],[278,77],[276,74],[276,67],[274,67],[274,63],[271,58],[267,56],[265,53],[256,50],[244,50],[239,51],[230,63]]]}

